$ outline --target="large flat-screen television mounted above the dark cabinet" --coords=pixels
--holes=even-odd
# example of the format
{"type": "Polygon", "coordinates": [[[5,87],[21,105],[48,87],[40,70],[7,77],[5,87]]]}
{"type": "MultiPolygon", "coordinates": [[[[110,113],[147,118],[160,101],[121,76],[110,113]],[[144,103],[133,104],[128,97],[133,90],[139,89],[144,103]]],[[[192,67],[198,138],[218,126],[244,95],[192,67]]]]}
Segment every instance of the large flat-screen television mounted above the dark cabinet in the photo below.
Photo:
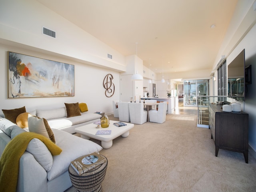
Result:
{"type": "Polygon", "coordinates": [[[245,101],[245,50],[228,65],[228,96],[245,101]]]}

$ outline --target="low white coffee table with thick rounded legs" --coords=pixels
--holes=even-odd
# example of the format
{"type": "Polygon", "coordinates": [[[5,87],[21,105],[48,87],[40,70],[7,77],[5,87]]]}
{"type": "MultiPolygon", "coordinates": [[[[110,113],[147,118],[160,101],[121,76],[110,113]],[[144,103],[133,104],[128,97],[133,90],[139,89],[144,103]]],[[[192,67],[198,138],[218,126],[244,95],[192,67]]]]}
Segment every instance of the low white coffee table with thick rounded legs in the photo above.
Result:
{"type": "Polygon", "coordinates": [[[96,128],[96,124],[88,124],[88,125],[84,125],[78,128],[75,128],[75,131],[77,133],[81,134],[81,138],[84,139],[90,139],[90,138],[94,138],[97,140],[101,141],[101,146],[104,149],[108,149],[112,146],[113,144],[113,139],[117,138],[118,136],[122,136],[122,137],[128,137],[130,132],[129,130],[131,128],[134,127],[134,124],[132,123],[126,123],[126,126],[122,126],[122,127],[117,127],[115,125],[113,125],[113,123],[118,122],[118,121],[109,121],[109,126],[108,128],[102,128],[100,126],[100,128],[96,128]],[[111,130],[111,134],[110,135],[96,135],[96,132],[98,130],[111,130]]]}

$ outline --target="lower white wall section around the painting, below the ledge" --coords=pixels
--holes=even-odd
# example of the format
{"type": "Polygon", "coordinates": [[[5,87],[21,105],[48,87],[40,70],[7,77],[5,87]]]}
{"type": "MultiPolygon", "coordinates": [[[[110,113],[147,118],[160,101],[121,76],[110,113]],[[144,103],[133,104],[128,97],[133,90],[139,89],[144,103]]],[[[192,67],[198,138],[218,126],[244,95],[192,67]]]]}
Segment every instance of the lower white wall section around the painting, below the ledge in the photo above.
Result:
{"type": "Polygon", "coordinates": [[[112,100],[119,100],[120,96],[120,73],[112,70],[102,69],[95,66],[67,60],[66,58],[33,52],[22,48],[0,44],[0,114],[2,109],[13,109],[26,106],[27,111],[33,108],[54,108],[64,106],[66,103],[85,102],[89,112],[104,111],[113,112],[112,100]],[[27,54],[30,56],[45,58],[58,62],[65,62],[75,66],[75,96],[74,97],[50,97],[50,98],[7,98],[8,86],[8,51],[27,54]],[[107,74],[112,74],[115,85],[115,93],[112,97],[105,96],[103,80],[107,74]]]}

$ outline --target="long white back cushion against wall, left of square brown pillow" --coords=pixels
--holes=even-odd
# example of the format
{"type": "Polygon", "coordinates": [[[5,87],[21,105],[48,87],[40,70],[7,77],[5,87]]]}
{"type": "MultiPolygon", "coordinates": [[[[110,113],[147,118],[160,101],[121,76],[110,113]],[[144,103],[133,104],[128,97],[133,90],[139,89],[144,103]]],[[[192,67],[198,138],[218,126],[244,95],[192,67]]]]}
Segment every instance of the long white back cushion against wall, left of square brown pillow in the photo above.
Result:
{"type": "Polygon", "coordinates": [[[57,119],[57,118],[66,117],[67,112],[65,107],[51,109],[51,110],[36,109],[36,116],[40,118],[45,118],[46,120],[57,119]]]}

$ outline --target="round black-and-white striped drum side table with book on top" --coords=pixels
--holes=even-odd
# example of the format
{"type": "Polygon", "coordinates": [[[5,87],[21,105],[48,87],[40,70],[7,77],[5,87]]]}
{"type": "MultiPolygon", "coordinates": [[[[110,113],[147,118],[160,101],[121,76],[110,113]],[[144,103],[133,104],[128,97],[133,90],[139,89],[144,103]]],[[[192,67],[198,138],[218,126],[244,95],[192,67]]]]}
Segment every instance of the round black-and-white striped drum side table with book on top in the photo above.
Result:
{"type": "Polygon", "coordinates": [[[101,166],[93,168],[82,175],[72,168],[70,165],[68,167],[68,173],[72,182],[72,185],[79,192],[102,192],[102,181],[105,178],[106,170],[108,166],[108,160],[105,156],[100,155],[106,159],[106,162],[101,166]]]}

